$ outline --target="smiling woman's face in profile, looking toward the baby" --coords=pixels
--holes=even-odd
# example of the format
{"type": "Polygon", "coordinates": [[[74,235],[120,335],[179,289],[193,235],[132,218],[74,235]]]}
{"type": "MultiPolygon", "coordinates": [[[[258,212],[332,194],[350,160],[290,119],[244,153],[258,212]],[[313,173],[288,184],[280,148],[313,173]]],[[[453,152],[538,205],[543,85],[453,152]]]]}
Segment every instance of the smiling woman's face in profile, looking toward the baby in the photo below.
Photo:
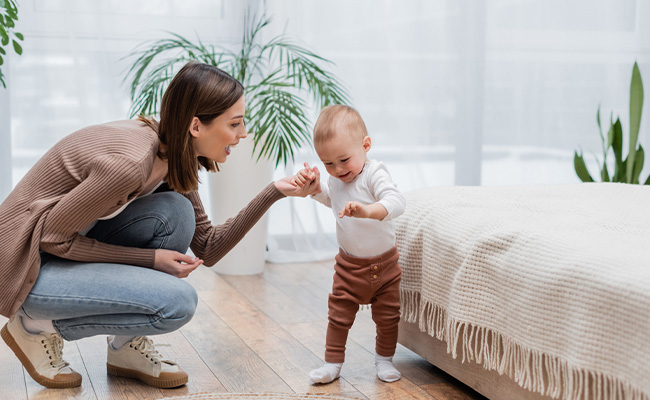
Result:
{"type": "Polygon", "coordinates": [[[225,113],[207,124],[194,117],[190,125],[190,134],[194,137],[192,145],[197,156],[218,163],[226,162],[235,145],[247,135],[244,126],[245,111],[246,103],[242,96],[225,113]]]}

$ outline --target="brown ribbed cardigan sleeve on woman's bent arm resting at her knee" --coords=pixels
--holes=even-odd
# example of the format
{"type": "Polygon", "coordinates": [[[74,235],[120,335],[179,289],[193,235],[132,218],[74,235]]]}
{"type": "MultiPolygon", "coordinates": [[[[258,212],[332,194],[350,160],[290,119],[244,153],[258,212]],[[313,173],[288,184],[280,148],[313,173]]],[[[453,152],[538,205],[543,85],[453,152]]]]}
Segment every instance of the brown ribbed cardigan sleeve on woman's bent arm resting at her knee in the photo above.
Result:
{"type": "Polygon", "coordinates": [[[40,249],[74,261],[110,262],[152,268],[155,249],[117,246],[81,235],[79,231],[126,204],[145,182],[141,168],[123,156],[109,154],[93,160],[87,175],[42,218],[40,249]]]}

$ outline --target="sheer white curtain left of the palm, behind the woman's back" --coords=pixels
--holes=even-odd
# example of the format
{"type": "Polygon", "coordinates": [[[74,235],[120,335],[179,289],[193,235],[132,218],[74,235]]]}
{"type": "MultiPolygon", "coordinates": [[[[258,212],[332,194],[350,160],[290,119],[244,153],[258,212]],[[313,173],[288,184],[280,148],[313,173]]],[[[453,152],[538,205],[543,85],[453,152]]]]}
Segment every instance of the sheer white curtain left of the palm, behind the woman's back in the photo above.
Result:
{"type": "MultiPolygon", "coordinates": [[[[84,126],[128,118],[134,58],[148,40],[169,32],[236,46],[248,1],[19,0],[22,56],[2,68],[0,200],[54,143],[84,126]]],[[[203,177],[205,181],[205,177],[203,177]]],[[[208,190],[201,186],[206,211],[208,190]]]]}

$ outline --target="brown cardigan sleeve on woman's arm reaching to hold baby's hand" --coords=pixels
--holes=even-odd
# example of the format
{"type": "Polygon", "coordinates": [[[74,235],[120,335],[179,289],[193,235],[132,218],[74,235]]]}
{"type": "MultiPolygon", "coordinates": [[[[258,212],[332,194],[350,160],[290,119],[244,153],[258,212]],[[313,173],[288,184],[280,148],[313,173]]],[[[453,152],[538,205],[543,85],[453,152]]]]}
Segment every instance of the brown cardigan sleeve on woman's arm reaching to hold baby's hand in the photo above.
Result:
{"type": "Polygon", "coordinates": [[[194,206],[196,230],[190,248],[204,265],[211,267],[225,256],[259,221],[273,203],[285,197],[274,183],[267,185],[237,216],[221,225],[212,225],[198,192],[185,194],[194,206]]]}

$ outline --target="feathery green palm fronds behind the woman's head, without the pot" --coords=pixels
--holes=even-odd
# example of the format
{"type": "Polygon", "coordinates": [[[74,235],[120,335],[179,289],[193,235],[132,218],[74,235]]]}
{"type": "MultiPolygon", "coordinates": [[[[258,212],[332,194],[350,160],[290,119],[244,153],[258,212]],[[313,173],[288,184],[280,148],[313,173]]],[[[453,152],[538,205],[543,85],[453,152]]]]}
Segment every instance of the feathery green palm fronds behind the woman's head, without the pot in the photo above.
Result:
{"type": "Polygon", "coordinates": [[[131,117],[156,115],[162,94],[176,71],[190,60],[223,69],[246,90],[246,125],[253,135],[257,160],[275,165],[293,160],[295,151],[309,143],[306,118],[310,96],[317,107],[348,103],[338,79],[324,66],[331,61],[294,43],[285,35],[260,42],[271,19],[245,16],[244,34],[238,49],[192,42],[180,35],[147,42],[127,57],[137,57],[125,80],[131,89],[131,117]]]}

